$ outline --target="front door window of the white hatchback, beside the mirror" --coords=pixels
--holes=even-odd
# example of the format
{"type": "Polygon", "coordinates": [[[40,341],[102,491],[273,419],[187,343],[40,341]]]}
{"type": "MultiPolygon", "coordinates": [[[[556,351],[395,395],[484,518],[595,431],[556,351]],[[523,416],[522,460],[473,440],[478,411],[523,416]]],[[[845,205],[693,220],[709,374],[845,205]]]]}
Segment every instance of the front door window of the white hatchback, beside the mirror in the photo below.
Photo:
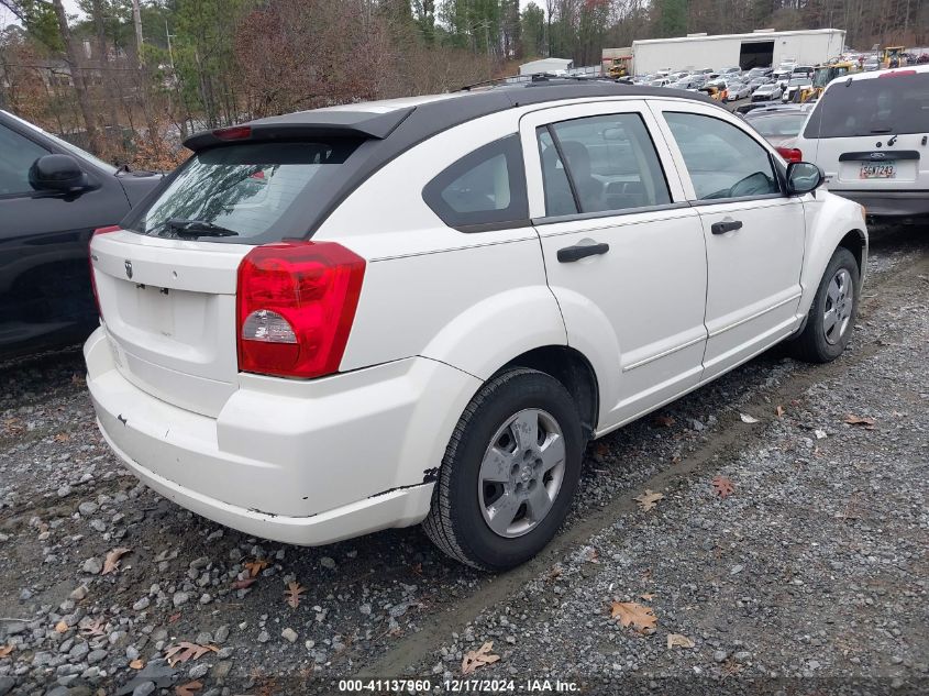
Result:
{"type": "Polygon", "coordinates": [[[698,200],[779,194],[767,151],[741,129],[712,117],[665,112],[698,200]]]}

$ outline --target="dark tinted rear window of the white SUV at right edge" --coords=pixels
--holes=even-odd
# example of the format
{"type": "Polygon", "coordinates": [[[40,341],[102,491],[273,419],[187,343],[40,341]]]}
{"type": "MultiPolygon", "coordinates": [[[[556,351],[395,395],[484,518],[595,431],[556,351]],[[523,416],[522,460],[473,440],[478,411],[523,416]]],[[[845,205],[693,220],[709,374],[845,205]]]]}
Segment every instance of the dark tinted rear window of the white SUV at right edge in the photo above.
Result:
{"type": "Polygon", "coordinates": [[[925,133],[929,73],[836,82],[819,100],[804,137],[925,133]]]}

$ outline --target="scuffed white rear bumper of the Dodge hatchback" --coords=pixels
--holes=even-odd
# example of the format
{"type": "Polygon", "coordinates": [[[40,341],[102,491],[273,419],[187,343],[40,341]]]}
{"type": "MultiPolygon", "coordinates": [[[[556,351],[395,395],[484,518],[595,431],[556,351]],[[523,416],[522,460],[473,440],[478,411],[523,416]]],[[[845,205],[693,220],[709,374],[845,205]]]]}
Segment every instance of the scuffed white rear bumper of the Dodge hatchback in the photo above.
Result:
{"type": "Polygon", "coordinates": [[[478,380],[427,358],[297,383],[241,375],[217,418],[119,372],[103,329],[85,345],[100,430],[143,483],[245,533],[318,545],[421,521],[432,472],[478,380]]]}

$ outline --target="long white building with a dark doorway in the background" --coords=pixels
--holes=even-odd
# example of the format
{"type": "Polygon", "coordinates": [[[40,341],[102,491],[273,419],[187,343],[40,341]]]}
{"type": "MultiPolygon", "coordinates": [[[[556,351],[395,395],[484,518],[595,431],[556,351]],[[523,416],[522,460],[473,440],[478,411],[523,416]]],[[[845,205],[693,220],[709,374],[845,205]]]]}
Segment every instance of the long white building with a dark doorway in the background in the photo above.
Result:
{"type": "Polygon", "coordinates": [[[838,57],[844,45],[845,32],[840,29],[649,38],[632,42],[632,68],[637,75],[648,75],[666,68],[777,67],[785,60],[816,65],[838,57]]]}

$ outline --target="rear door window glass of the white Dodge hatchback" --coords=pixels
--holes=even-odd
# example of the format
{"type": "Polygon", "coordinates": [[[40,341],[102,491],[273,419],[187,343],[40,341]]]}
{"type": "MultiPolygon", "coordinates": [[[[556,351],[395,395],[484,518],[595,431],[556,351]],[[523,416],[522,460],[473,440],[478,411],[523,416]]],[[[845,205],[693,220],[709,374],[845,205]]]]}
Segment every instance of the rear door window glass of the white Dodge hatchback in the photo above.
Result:
{"type": "Polygon", "coordinates": [[[538,129],[537,136],[549,217],[671,202],[661,162],[638,113],[562,121],[538,129]]]}

